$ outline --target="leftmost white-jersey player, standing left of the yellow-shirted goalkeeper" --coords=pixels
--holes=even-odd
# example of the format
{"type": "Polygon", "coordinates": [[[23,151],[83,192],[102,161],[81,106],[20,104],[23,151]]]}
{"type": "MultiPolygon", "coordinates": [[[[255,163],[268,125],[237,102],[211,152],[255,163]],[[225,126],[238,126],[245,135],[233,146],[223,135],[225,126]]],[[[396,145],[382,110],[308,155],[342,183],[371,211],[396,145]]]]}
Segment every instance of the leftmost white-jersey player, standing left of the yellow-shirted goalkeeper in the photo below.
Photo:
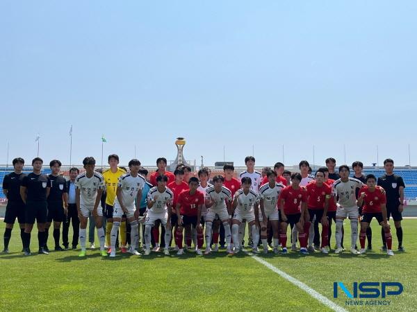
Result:
{"type": "Polygon", "coordinates": [[[76,207],[80,219],[79,239],[81,252],[79,257],[85,257],[85,239],[87,236],[87,220],[92,214],[97,227],[97,235],[100,241],[100,254],[107,256],[104,250],[104,239],[106,234],[102,226],[103,209],[99,207],[101,194],[104,190],[104,178],[98,172],[94,171],[95,159],[93,157],[85,157],[83,160],[85,172],[78,175],[75,179],[76,207]]]}

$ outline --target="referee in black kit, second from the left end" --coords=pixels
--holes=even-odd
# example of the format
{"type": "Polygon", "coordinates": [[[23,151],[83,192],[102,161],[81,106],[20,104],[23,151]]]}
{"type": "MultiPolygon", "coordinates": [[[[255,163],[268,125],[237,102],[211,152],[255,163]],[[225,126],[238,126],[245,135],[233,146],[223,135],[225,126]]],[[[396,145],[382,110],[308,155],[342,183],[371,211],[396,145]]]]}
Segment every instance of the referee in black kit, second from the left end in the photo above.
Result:
{"type": "Polygon", "coordinates": [[[33,224],[38,223],[39,254],[48,254],[44,250],[45,223],[47,222],[48,204],[51,180],[40,173],[43,160],[36,157],[32,160],[33,172],[26,175],[20,187],[20,196],[26,204],[26,224],[24,227],[24,254],[31,255],[31,232],[33,224]]]}

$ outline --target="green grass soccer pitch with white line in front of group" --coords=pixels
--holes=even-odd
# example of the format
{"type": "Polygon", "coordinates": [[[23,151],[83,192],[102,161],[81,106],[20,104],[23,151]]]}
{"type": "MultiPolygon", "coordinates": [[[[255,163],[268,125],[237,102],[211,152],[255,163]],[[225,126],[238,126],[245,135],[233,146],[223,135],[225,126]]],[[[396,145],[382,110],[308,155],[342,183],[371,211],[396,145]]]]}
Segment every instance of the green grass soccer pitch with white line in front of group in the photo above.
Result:
{"type": "MultiPolygon", "coordinates": [[[[374,221],[374,250],[366,255],[259,254],[266,263],[245,253],[228,256],[223,250],[208,257],[190,252],[164,256],[161,252],[139,257],[118,253],[110,259],[101,258],[97,249],[88,250],[85,259],[77,257],[79,250],[24,257],[15,227],[10,254],[0,255],[0,310],[332,311],[322,299],[271,270],[275,267],[320,293],[340,311],[415,311],[417,219],[403,222],[406,252],[396,252],[393,229],[393,257],[379,251],[380,227],[374,221]],[[376,299],[389,300],[389,306],[350,306],[342,291],[333,298],[334,281],[342,281],[350,290],[354,281],[398,281],[404,291],[376,299]]],[[[345,226],[345,248],[350,246],[349,230],[345,226]]],[[[38,250],[36,232],[32,233],[32,251],[38,250]]]]}

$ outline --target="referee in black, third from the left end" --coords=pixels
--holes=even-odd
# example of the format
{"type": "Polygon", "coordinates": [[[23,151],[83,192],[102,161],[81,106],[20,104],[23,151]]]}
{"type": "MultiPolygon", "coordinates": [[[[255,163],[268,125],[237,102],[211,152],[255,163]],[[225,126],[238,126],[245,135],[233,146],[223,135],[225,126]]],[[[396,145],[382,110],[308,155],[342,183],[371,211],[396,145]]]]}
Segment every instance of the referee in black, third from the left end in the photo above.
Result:
{"type": "Polygon", "coordinates": [[[55,250],[62,251],[63,248],[59,245],[60,237],[60,225],[64,220],[64,216],[68,211],[68,191],[67,191],[67,180],[65,177],[61,177],[60,173],[61,162],[58,159],[51,160],[49,162],[49,168],[51,168],[51,174],[48,175],[51,184],[49,187],[51,191],[48,196],[48,218],[45,226],[45,244],[44,250],[49,252],[48,248],[48,236],[49,227],[51,222],[54,220],[54,241],[55,250]]]}

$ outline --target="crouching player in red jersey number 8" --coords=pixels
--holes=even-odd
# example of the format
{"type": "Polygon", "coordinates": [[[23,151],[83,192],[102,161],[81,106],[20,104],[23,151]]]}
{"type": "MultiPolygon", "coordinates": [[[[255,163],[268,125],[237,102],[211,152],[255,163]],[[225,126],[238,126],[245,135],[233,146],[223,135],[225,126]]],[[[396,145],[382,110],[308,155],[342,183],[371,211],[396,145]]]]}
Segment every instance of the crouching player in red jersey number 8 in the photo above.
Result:
{"type": "Polygon", "coordinates": [[[281,219],[281,234],[279,238],[282,244],[282,253],[287,253],[286,240],[287,240],[287,227],[288,224],[293,224],[298,229],[298,239],[300,241],[300,252],[302,254],[309,254],[307,251],[307,239],[304,233],[304,216],[306,211],[307,191],[304,187],[300,187],[301,182],[300,173],[293,173],[291,175],[292,184],[285,187],[281,193],[279,193],[279,209],[281,219]],[[301,207],[301,209],[300,209],[301,207]]]}

